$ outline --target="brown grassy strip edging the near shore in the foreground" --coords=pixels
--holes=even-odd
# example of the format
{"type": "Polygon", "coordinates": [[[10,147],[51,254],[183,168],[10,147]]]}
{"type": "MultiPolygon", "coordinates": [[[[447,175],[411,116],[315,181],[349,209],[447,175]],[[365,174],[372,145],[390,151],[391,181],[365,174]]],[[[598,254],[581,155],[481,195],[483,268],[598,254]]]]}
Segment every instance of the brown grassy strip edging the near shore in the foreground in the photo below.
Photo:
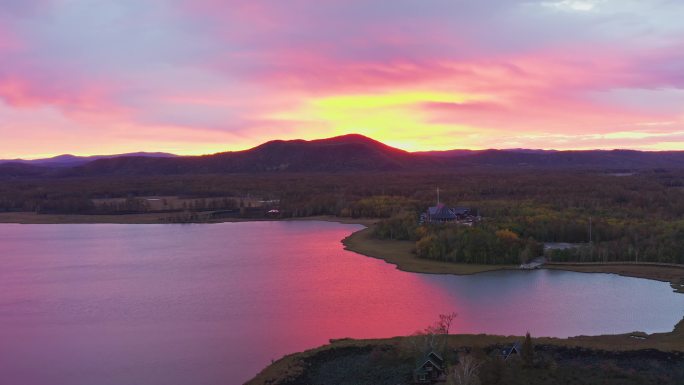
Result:
{"type": "MultiPolygon", "coordinates": [[[[375,340],[333,340],[330,344],[302,353],[287,355],[262,370],[256,377],[247,382],[249,385],[285,384],[300,377],[310,366],[309,362],[317,356],[334,355],[335,351],[345,348],[376,348],[392,346],[397,350],[411,346],[411,339],[417,337],[394,337],[375,340]]],[[[495,345],[507,345],[522,340],[520,336],[493,336],[456,334],[448,338],[449,349],[462,347],[487,348],[495,345]]],[[[684,352],[684,319],[669,333],[645,334],[641,332],[604,335],[580,336],[567,339],[535,338],[535,345],[549,345],[565,348],[583,349],[587,357],[595,355],[597,351],[628,352],[655,349],[662,352],[684,352]]],[[[296,381],[294,382],[296,383],[296,381]]]]}

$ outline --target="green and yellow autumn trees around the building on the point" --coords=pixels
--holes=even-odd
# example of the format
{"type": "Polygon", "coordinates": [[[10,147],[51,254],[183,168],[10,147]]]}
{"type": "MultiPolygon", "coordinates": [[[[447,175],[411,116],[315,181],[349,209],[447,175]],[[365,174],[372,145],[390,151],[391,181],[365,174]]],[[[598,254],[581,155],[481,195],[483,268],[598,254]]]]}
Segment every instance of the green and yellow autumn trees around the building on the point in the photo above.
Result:
{"type": "Polygon", "coordinates": [[[418,257],[458,263],[526,263],[544,254],[558,262],[684,263],[684,220],[592,217],[590,230],[588,218],[572,214],[485,217],[474,227],[418,226],[417,218],[383,220],[374,236],[415,241],[418,257]],[[544,252],[544,242],[574,245],[544,252]]]}

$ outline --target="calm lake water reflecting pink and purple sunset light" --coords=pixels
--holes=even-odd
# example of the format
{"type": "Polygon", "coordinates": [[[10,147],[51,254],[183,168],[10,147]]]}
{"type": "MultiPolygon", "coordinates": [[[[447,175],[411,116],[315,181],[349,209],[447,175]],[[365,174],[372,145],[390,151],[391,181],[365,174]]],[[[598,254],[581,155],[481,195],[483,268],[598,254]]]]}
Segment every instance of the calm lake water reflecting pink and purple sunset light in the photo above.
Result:
{"type": "Polygon", "coordinates": [[[240,384],[330,338],[664,332],[667,283],[608,274],[424,275],[342,248],[358,225],[0,224],[0,384],[240,384]]]}

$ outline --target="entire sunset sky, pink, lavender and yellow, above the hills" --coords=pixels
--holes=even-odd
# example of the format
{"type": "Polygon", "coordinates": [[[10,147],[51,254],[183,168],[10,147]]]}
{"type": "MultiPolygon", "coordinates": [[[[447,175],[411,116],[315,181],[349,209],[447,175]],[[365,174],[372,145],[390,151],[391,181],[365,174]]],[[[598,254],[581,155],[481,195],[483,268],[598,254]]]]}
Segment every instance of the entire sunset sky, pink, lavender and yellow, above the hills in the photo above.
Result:
{"type": "Polygon", "coordinates": [[[684,150],[681,0],[0,0],[0,159],[684,150]]]}

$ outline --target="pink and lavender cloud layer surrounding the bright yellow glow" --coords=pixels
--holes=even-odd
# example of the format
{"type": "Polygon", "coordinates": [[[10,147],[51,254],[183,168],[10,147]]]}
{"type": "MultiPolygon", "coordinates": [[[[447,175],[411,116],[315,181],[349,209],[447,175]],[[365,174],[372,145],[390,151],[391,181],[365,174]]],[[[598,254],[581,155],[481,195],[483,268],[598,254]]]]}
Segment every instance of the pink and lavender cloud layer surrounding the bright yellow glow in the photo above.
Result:
{"type": "MultiPolygon", "coordinates": [[[[0,10],[0,104],[54,109],[97,127],[99,138],[127,127],[144,138],[167,129],[244,143],[325,136],[329,122],[318,117],[274,118],[316,98],[412,90],[470,96],[406,108],[426,126],[490,135],[483,143],[501,133],[554,143],[554,135],[684,118],[668,93],[684,88],[684,46],[658,25],[631,39],[643,26],[625,10],[549,14],[522,0],[121,0],[105,12],[86,3],[11,0],[0,10]]],[[[45,119],[48,128],[27,126],[27,135],[64,127],[45,119]]]]}

